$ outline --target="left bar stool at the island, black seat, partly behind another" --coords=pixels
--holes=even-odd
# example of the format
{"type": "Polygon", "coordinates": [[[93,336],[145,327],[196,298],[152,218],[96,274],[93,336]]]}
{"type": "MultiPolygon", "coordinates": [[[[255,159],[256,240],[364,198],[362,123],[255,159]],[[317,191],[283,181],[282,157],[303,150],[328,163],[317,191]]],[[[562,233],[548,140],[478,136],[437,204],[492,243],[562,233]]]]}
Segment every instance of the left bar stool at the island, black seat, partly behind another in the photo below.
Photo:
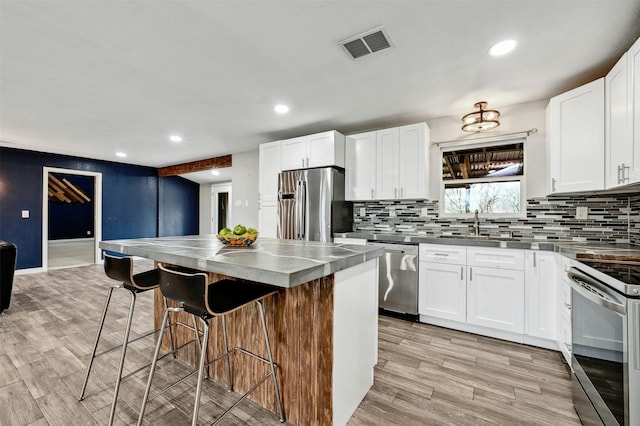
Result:
{"type": "MultiPolygon", "coordinates": [[[[139,274],[134,275],[133,260],[131,259],[131,257],[116,257],[116,256],[111,256],[107,253],[104,254],[104,272],[109,278],[119,281],[120,284],[111,286],[109,288],[109,291],[107,292],[107,300],[105,301],[104,309],[102,310],[102,318],[100,319],[100,324],[98,325],[98,332],[96,334],[93,350],[91,351],[91,359],[89,360],[89,365],[87,366],[87,372],[84,378],[84,383],[82,384],[82,390],[80,391],[79,400],[82,401],[84,399],[84,394],[87,389],[87,383],[89,381],[89,375],[91,374],[91,368],[93,367],[94,359],[108,352],[111,352],[115,349],[122,348],[121,355],[120,355],[120,364],[118,365],[118,375],[116,378],[115,389],[113,392],[113,402],[111,403],[111,412],[109,414],[109,425],[112,425],[114,420],[114,414],[116,411],[116,402],[118,400],[118,392],[120,390],[120,382],[122,381],[122,379],[127,378],[137,373],[140,370],[143,370],[144,368],[148,367],[151,364],[151,363],[148,363],[138,368],[137,370],[133,371],[132,373],[129,373],[124,377],[122,376],[122,370],[124,368],[124,360],[127,353],[127,345],[129,343],[135,342],[137,340],[140,340],[153,333],[160,331],[159,329],[152,330],[144,333],[139,337],[136,337],[135,339],[129,340],[131,323],[133,321],[133,311],[136,304],[136,295],[138,293],[142,293],[147,290],[152,290],[157,288],[159,273],[157,269],[152,269],[150,271],[145,271],[145,272],[141,272],[139,274]],[[96,354],[96,351],[98,349],[98,344],[100,343],[100,335],[102,334],[104,321],[107,316],[107,311],[109,309],[111,294],[113,293],[113,290],[121,289],[121,288],[128,290],[129,293],[131,294],[131,302],[129,303],[129,315],[127,317],[127,325],[125,326],[125,329],[124,329],[124,337],[123,337],[122,345],[116,345],[114,347],[111,347],[109,349],[106,349],[96,354]]],[[[167,300],[164,297],[163,299],[164,299],[164,306],[166,308],[167,300]]],[[[194,325],[195,325],[195,319],[194,319],[194,325]]],[[[164,333],[164,330],[163,330],[163,333],[164,333]]],[[[163,333],[161,333],[160,336],[163,336],[164,335],[163,333]]],[[[159,340],[162,340],[162,338],[159,337],[159,340]]],[[[169,327],[169,341],[171,345],[171,352],[169,352],[169,354],[175,353],[177,349],[173,347],[173,336],[171,334],[171,327],[169,327]]],[[[169,354],[166,354],[166,355],[169,355],[169,354]]]]}

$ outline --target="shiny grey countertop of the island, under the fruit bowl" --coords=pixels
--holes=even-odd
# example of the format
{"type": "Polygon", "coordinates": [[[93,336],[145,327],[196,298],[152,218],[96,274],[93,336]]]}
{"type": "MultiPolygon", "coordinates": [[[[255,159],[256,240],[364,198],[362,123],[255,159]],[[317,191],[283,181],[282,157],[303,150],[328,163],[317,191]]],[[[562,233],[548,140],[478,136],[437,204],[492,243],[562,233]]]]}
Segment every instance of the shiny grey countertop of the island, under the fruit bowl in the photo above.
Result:
{"type": "Polygon", "coordinates": [[[331,275],[383,253],[371,246],[271,238],[258,238],[250,247],[226,247],[215,235],[101,241],[100,248],[285,288],[331,275]]]}

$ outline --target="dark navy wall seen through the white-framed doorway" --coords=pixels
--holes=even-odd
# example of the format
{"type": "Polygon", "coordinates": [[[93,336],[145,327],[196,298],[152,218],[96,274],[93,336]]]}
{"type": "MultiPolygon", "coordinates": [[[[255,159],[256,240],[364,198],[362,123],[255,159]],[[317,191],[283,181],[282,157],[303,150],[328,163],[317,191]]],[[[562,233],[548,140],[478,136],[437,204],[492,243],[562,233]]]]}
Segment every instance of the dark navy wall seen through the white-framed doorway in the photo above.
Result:
{"type": "Polygon", "coordinates": [[[58,201],[49,198],[49,240],[63,240],[73,238],[93,238],[94,226],[94,177],[82,175],[70,175],[66,173],[52,173],[62,182],[62,179],[84,192],[91,201],[84,203],[71,200],[58,201]]]}

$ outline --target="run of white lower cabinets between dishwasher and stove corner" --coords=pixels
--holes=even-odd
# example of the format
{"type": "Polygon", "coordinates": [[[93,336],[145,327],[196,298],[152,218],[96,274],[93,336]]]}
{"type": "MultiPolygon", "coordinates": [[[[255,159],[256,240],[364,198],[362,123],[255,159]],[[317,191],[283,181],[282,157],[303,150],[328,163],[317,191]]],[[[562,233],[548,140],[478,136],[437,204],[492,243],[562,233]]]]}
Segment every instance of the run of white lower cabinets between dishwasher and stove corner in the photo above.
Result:
{"type": "Polygon", "coordinates": [[[420,321],[548,349],[562,339],[570,348],[571,326],[558,328],[558,261],[539,250],[420,244],[420,321]]]}

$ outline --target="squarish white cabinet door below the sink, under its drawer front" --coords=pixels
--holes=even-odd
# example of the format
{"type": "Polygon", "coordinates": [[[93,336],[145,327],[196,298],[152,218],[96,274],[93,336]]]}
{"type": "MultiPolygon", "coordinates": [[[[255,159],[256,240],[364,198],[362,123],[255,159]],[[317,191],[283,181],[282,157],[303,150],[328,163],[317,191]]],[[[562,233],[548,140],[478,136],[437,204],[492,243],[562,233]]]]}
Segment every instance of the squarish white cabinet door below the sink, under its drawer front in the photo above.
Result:
{"type": "Polygon", "coordinates": [[[468,267],[467,322],[524,333],[524,272],[468,267]]]}

